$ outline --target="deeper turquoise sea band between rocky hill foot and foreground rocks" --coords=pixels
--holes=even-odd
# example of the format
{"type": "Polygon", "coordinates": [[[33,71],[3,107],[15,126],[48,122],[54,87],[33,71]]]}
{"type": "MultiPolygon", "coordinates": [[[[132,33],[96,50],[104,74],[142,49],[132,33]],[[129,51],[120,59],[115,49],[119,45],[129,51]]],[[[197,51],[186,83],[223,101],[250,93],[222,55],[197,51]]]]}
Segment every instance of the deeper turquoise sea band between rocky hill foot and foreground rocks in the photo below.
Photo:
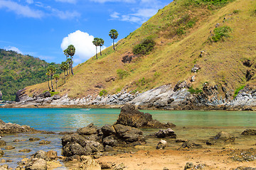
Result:
{"type": "MultiPolygon", "coordinates": [[[[249,111],[143,111],[161,122],[177,126],[256,127],[256,112],[249,111]]],[[[37,130],[74,131],[90,123],[112,125],[120,109],[104,108],[0,108],[4,122],[29,125],[37,130]]]]}

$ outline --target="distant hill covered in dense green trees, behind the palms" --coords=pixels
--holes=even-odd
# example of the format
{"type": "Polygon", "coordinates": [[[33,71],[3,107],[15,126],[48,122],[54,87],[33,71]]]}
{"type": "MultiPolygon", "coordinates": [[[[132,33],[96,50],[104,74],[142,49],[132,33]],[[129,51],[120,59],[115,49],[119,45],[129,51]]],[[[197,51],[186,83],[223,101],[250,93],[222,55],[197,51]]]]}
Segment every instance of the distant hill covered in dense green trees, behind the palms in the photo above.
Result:
{"type": "Polygon", "coordinates": [[[49,65],[57,68],[56,73],[61,73],[59,64],[49,64],[30,55],[0,49],[0,90],[3,100],[15,101],[19,89],[47,81],[46,68],[49,65]]]}

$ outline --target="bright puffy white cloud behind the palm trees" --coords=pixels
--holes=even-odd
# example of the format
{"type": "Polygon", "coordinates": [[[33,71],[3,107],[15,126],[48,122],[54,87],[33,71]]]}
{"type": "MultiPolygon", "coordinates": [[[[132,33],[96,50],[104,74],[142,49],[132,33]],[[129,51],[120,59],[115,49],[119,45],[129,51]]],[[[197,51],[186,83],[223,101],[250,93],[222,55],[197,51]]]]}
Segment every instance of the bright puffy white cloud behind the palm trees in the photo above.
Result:
{"type": "Polygon", "coordinates": [[[76,30],[75,33],[70,33],[68,37],[63,38],[60,47],[62,50],[67,49],[68,45],[75,46],[74,64],[85,62],[90,57],[95,55],[95,45],[92,44],[94,37],[88,33],[76,30]]]}

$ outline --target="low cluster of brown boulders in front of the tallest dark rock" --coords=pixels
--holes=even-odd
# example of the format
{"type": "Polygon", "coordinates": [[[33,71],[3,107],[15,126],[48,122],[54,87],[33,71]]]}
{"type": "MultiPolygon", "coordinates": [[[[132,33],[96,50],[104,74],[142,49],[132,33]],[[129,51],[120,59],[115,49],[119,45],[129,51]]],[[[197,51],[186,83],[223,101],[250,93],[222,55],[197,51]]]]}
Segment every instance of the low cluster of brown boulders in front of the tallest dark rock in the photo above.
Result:
{"type": "Polygon", "coordinates": [[[65,157],[72,157],[76,154],[90,155],[103,152],[104,148],[106,151],[118,145],[145,142],[142,130],[120,124],[105,125],[102,128],[90,124],[78,129],[77,133],[64,135],[61,140],[65,157]]]}

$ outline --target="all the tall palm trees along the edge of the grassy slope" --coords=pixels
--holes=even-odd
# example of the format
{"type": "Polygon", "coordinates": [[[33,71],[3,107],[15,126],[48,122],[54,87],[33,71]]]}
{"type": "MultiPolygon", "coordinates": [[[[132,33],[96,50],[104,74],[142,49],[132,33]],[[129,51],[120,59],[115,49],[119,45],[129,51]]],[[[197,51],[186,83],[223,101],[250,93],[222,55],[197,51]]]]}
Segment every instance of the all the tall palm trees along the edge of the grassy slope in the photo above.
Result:
{"type": "MultiPolygon", "coordinates": [[[[114,49],[114,40],[117,39],[118,37],[118,32],[117,30],[110,30],[110,38],[113,39],[113,49],[114,49]]],[[[92,41],[93,45],[96,46],[96,58],[97,58],[97,47],[100,46],[100,55],[102,55],[101,52],[101,47],[102,45],[104,45],[104,40],[102,40],[102,38],[94,38],[94,40],[92,41]]],[[[64,55],[67,57],[67,60],[65,62],[61,62],[60,64],[60,69],[63,69],[64,71],[64,81],[65,81],[65,77],[66,75],[68,76],[68,70],[71,72],[71,74],[74,75],[73,73],[73,56],[75,55],[75,47],[74,45],[69,45],[68,48],[66,50],[63,51],[64,55]],[[67,74],[65,74],[65,72],[67,72],[67,74]]],[[[58,79],[60,79],[59,74],[55,74],[56,72],[56,68],[53,65],[50,65],[47,68],[47,72],[46,75],[48,77],[48,88],[49,91],[54,91],[53,89],[53,79],[55,79],[55,84],[56,84],[56,89],[57,89],[57,82],[58,79]],[[50,77],[50,81],[51,81],[51,86],[49,84],[49,77],[50,77]]],[[[69,74],[70,74],[69,72],[69,74]]]]}

